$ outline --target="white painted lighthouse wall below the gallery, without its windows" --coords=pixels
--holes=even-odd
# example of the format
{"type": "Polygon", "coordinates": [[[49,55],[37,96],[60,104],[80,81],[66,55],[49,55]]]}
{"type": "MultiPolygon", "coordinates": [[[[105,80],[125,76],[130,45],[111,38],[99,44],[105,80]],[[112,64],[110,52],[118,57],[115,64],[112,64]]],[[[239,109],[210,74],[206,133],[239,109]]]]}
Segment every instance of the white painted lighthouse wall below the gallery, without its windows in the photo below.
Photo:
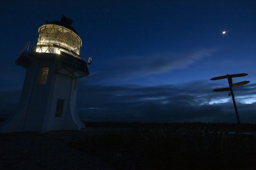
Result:
{"type": "Polygon", "coordinates": [[[27,69],[15,114],[0,127],[0,132],[48,132],[85,127],[76,112],[77,79],[55,73],[60,66],[58,59],[34,60],[27,69]],[[38,83],[42,67],[49,67],[45,85],[38,83]],[[61,117],[55,117],[58,99],[65,99],[61,117]]]}

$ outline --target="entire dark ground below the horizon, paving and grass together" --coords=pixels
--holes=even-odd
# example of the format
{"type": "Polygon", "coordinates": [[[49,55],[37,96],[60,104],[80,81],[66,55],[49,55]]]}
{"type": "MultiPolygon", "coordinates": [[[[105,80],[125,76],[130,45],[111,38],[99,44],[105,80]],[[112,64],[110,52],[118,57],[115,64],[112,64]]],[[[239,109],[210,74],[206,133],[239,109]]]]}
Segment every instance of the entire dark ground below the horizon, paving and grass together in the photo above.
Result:
{"type": "Polygon", "coordinates": [[[0,134],[0,169],[256,169],[255,124],[86,125],[0,134]]]}

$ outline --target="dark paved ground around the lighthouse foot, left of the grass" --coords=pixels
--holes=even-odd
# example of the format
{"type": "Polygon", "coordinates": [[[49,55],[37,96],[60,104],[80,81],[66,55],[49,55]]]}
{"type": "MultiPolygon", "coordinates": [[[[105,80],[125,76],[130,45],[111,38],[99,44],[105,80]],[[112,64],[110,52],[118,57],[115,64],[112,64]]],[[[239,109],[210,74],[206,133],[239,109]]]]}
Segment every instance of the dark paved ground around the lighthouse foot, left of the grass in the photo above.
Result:
{"type": "Polygon", "coordinates": [[[70,141],[97,134],[99,129],[0,134],[0,169],[113,169],[88,153],[70,148],[70,141]]]}

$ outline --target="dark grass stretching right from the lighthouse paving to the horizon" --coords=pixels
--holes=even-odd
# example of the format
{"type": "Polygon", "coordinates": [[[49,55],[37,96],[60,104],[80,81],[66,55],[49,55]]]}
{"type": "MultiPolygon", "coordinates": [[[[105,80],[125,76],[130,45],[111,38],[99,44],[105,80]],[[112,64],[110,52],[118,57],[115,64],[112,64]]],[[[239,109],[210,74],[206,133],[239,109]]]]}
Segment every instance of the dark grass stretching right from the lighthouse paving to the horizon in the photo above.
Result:
{"type": "MultiPolygon", "coordinates": [[[[228,134],[236,124],[88,123],[111,128],[70,142],[70,146],[105,160],[115,169],[253,169],[255,135],[228,134]]],[[[255,131],[255,124],[243,124],[255,131]]]]}

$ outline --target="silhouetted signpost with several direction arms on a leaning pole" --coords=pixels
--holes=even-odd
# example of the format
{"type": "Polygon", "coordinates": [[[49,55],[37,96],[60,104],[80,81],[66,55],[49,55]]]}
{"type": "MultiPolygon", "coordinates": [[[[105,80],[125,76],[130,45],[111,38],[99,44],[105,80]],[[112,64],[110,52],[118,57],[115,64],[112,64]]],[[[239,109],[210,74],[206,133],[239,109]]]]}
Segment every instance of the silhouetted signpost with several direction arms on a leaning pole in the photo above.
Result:
{"type": "Polygon", "coordinates": [[[240,73],[240,74],[227,74],[225,76],[218,76],[218,77],[214,77],[211,78],[211,80],[221,80],[221,79],[228,79],[228,85],[229,87],[226,88],[221,88],[221,89],[214,89],[214,92],[225,92],[225,91],[230,91],[230,95],[232,96],[232,100],[233,100],[233,104],[234,104],[234,108],[236,111],[236,118],[237,118],[237,124],[240,124],[240,118],[238,115],[238,111],[237,111],[237,106],[236,106],[236,100],[235,100],[235,96],[234,96],[234,92],[233,92],[233,88],[232,87],[236,87],[239,85],[246,85],[247,83],[250,83],[250,81],[240,81],[237,83],[233,83],[232,78],[234,77],[242,77],[242,76],[247,76],[248,74],[246,73],[240,73]]]}

